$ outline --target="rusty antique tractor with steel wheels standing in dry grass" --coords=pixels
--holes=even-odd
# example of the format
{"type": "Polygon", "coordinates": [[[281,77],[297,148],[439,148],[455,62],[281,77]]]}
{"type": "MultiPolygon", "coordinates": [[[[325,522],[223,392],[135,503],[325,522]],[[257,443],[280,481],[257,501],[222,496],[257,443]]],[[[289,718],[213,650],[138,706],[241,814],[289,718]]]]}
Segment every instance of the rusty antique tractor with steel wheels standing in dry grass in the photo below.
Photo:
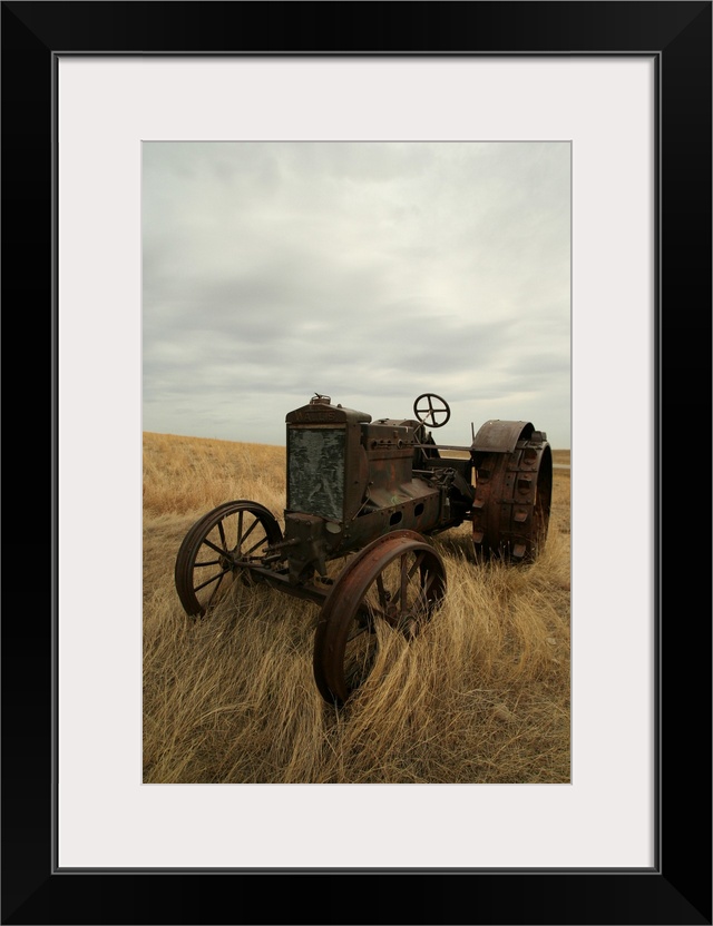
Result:
{"type": "Polygon", "coordinates": [[[320,607],[313,671],[330,705],[369,676],[380,622],[412,637],[439,607],[446,569],[428,538],[470,521],[476,561],[527,563],[547,535],[553,456],[543,431],[494,420],[470,446],[438,445],[428,428],[449,421],[448,403],[424,393],[413,414],[372,421],[316,394],[286,415],[284,532],[262,504],[231,501],[178,550],[176,590],[192,618],[235,581],[320,607]]]}

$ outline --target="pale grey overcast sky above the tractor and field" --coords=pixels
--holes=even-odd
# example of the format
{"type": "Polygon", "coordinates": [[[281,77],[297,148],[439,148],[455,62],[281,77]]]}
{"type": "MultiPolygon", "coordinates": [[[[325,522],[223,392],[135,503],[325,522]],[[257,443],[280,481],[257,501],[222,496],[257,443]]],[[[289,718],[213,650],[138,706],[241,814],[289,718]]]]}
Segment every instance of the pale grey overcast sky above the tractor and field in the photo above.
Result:
{"type": "Polygon", "coordinates": [[[323,393],[570,445],[567,142],[144,142],[143,428],[284,444],[323,393]]]}

